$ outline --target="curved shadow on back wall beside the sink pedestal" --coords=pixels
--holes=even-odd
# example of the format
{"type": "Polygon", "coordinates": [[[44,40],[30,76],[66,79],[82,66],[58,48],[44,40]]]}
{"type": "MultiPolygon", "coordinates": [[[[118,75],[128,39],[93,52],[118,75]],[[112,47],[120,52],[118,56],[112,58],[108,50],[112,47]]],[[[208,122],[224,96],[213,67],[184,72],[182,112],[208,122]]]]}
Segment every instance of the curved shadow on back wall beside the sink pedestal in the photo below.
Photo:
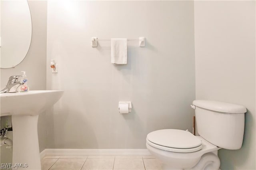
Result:
{"type": "Polygon", "coordinates": [[[87,146],[87,148],[98,146],[94,129],[90,126],[90,121],[86,119],[86,109],[84,112],[70,110],[68,105],[60,108],[60,110],[52,108],[51,111],[48,111],[47,134],[48,139],[51,140],[48,140],[47,146],[63,149],[67,148],[66,146],[69,146],[68,149],[78,149],[82,148],[81,146],[87,146]],[[72,124],[74,122],[75,124],[72,124]],[[72,133],[67,134],[67,131],[72,133]]]}

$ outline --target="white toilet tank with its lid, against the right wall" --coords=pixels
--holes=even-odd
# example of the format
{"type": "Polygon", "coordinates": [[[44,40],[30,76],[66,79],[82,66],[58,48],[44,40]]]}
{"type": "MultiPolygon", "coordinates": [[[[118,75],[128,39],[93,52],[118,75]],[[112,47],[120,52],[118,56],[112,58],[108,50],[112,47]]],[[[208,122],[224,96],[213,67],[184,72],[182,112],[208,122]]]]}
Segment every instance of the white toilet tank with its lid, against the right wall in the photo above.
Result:
{"type": "Polygon", "coordinates": [[[244,137],[244,113],[241,105],[218,101],[194,100],[198,134],[220,148],[240,149],[244,137]]]}

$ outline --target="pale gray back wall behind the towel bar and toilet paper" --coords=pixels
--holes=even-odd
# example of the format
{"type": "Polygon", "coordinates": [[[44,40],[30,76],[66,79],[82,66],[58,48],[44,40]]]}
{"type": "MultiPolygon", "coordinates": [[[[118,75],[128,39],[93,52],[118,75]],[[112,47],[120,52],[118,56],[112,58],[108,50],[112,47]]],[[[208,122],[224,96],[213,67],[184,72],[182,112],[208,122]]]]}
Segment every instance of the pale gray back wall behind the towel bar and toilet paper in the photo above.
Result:
{"type": "Polygon", "coordinates": [[[64,95],[47,114],[48,148],[146,148],[152,130],[192,130],[194,2],[49,1],[47,88],[64,95]],[[128,64],[110,63],[110,42],[128,42],[128,64]],[[118,101],[132,101],[120,115],[118,101]]]}

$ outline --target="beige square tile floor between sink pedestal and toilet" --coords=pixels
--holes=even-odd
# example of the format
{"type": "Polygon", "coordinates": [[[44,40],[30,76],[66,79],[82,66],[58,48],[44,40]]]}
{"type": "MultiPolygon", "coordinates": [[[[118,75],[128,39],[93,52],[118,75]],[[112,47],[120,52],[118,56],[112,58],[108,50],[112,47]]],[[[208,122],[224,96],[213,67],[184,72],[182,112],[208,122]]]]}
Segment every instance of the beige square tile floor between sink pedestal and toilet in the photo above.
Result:
{"type": "Polygon", "coordinates": [[[152,156],[45,156],[42,170],[161,170],[152,156]]]}

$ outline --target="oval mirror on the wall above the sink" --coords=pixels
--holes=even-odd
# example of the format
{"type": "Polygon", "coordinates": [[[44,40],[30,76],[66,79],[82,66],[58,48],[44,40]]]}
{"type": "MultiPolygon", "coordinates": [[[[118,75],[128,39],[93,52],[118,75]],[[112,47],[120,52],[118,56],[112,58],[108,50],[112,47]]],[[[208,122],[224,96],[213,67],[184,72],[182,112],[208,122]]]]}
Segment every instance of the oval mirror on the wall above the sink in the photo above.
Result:
{"type": "Polygon", "coordinates": [[[26,57],[31,43],[32,22],[28,2],[1,0],[0,21],[0,67],[15,67],[26,57]]]}

